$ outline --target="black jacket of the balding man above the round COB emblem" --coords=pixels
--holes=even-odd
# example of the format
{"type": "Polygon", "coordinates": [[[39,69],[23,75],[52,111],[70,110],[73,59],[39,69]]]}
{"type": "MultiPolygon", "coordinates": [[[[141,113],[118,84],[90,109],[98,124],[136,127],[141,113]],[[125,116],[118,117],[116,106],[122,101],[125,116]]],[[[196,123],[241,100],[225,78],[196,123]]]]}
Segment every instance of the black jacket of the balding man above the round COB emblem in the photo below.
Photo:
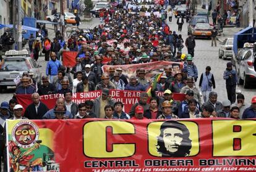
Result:
{"type": "Polygon", "coordinates": [[[25,110],[24,117],[28,118],[29,120],[41,120],[43,119],[43,115],[45,115],[48,110],[48,107],[40,102],[36,113],[35,104],[32,103],[28,105],[27,109],[25,110]]]}

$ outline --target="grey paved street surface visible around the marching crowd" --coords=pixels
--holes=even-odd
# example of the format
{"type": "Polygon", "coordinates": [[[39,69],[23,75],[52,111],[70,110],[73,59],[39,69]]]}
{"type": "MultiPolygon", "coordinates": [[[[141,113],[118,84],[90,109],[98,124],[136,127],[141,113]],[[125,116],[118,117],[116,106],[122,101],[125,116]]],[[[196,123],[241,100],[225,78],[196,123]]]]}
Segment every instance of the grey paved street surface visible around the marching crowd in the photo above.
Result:
{"type": "MultiPolygon", "coordinates": [[[[185,21],[186,22],[186,21],[185,21]]],[[[82,22],[82,25],[80,25],[80,28],[93,28],[96,25],[100,24],[99,18],[93,18],[90,22],[82,22]]],[[[48,26],[51,29],[48,29],[49,32],[49,38],[52,39],[54,37],[54,31],[52,26],[48,26]]],[[[177,31],[177,24],[176,24],[176,18],[173,17],[173,22],[169,23],[169,27],[171,30],[176,31],[176,33],[179,35],[182,35],[182,38],[187,38],[187,23],[184,23],[182,31],[177,31]]],[[[231,36],[233,35],[232,31],[236,29],[233,28],[224,28],[224,36],[231,36]]],[[[239,31],[239,30],[237,30],[239,31]]],[[[223,39],[223,38],[219,38],[223,39]]],[[[226,88],[225,88],[225,81],[223,80],[223,72],[226,68],[226,63],[228,60],[222,60],[218,59],[218,49],[220,47],[220,44],[218,43],[217,47],[211,47],[211,41],[209,39],[196,39],[196,47],[195,47],[195,58],[194,63],[197,65],[198,68],[198,80],[200,79],[200,75],[202,72],[205,72],[205,67],[207,65],[211,66],[211,72],[215,76],[216,81],[216,89],[215,91],[218,92],[218,96],[220,100],[227,99],[226,94],[226,88]]],[[[187,53],[187,49],[184,48],[183,52],[187,53]]],[[[44,61],[44,57],[41,56],[38,60],[38,64],[42,65],[41,71],[45,73],[45,66],[46,62],[44,61]]],[[[198,85],[197,81],[197,85],[198,85]]],[[[256,86],[252,86],[251,89],[244,89],[242,86],[238,86],[237,89],[240,89],[242,91],[242,94],[245,96],[245,102],[249,103],[251,97],[256,96],[256,86]],[[252,89],[254,88],[254,89],[252,89]]],[[[1,94],[0,96],[0,102],[3,100],[9,100],[12,97],[12,92],[14,92],[14,89],[9,89],[6,93],[1,94]]]]}

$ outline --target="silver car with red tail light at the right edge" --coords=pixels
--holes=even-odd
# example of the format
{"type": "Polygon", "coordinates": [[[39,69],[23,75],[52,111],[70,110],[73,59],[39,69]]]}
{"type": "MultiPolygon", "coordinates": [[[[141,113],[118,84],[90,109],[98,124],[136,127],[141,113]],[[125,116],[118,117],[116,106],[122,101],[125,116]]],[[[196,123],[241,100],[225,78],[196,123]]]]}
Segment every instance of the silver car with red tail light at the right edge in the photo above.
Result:
{"type": "Polygon", "coordinates": [[[253,48],[241,49],[234,61],[239,84],[243,84],[244,88],[249,88],[250,84],[256,83],[256,62],[253,48]]]}

